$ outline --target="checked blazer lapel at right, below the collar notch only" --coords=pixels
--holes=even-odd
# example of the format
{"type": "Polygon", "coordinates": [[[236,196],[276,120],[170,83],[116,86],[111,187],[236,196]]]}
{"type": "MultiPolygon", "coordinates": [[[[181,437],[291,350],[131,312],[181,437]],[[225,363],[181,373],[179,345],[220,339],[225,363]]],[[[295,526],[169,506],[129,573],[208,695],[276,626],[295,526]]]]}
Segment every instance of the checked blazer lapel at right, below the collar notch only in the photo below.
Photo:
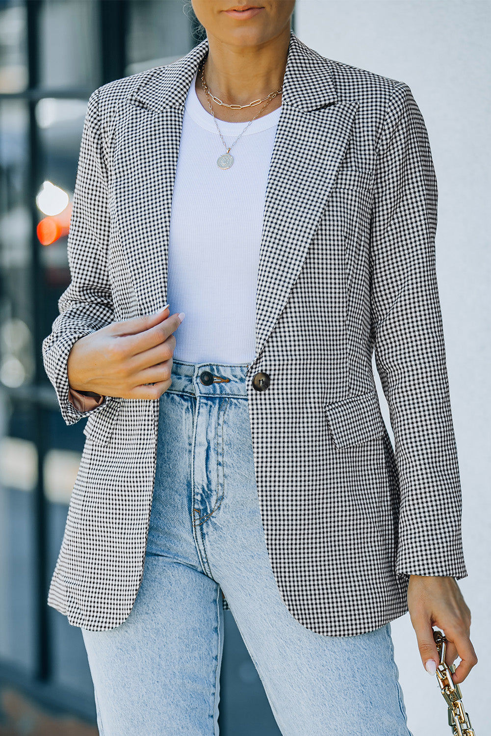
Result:
{"type": "Polygon", "coordinates": [[[305,112],[283,107],[264,205],[256,291],[256,357],[302,268],[344,158],[358,102],[305,112]]]}

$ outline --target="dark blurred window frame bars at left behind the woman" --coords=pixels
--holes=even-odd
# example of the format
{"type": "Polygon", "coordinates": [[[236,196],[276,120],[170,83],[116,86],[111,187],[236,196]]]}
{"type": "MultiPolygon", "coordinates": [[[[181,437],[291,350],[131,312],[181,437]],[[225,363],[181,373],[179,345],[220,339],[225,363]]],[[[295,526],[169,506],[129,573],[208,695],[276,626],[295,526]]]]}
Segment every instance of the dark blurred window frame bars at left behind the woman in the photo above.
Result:
{"type": "MultiPolygon", "coordinates": [[[[96,86],[125,76],[127,66],[127,22],[129,17],[128,0],[92,0],[98,6],[99,37],[94,43],[99,45],[100,63],[96,69],[96,86]]],[[[29,406],[33,417],[33,436],[38,450],[38,482],[32,494],[35,519],[32,534],[34,537],[35,560],[33,561],[32,586],[35,590],[35,652],[32,673],[0,659],[0,682],[17,687],[27,696],[38,701],[51,712],[77,715],[84,721],[95,721],[93,701],[84,698],[80,693],[52,682],[53,652],[50,611],[46,604],[49,581],[52,570],[48,562],[48,512],[47,500],[43,484],[43,465],[49,442],[46,439],[46,422],[50,411],[58,411],[58,402],[54,389],[46,378],[40,350],[46,337],[46,314],[43,308],[46,303],[46,289],[43,280],[43,266],[40,263],[40,244],[36,236],[39,213],[35,199],[43,181],[43,162],[41,160],[40,137],[35,118],[35,107],[40,99],[81,99],[85,102],[94,88],[65,87],[49,88],[40,85],[40,13],[44,0],[24,0],[27,13],[27,89],[15,93],[0,93],[0,105],[4,101],[22,100],[29,110],[29,168],[27,171],[26,199],[29,205],[32,236],[30,241],[30,263],[27,272],[29,291],[32,294],[33,314],[32,326],[35,344],[35,373],[29,386],[7,388],[0,386],[14,406],[29,406]]],[[[194,28],[189,26],[189,44],[194,46],[196,38],[194,28]]],[[[53,315],[53,319],[54,319],[53,315]]]]}

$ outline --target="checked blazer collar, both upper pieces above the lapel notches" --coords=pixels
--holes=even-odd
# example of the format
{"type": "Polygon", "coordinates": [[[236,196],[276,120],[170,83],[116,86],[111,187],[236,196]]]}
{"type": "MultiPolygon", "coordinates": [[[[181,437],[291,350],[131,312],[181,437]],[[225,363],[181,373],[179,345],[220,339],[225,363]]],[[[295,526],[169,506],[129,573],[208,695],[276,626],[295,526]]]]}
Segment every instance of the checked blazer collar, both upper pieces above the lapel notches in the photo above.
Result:
{"type": "MultiPolygon", "coordinates": [[[[131,102],[161,111],[166,107],[183,107],[191,79],[200,61],[208,54],[208,39],[168,66],[150,70],[133,92],[131,102]]],[[[336,88],[329,71],[329,60],[290,35],[282,105],[298,110],[318,110],[337,102],[336,88]]]]}

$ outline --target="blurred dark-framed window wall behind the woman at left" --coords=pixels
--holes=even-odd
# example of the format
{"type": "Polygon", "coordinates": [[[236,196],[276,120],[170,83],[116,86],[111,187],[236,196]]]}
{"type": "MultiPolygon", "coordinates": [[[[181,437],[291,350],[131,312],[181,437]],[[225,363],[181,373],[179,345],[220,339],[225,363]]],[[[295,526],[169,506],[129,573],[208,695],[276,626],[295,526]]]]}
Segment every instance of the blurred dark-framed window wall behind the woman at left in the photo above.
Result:
{"type": "MultiPolygon", "coordinates": [[[[63,422],[40,344],[70,279],[68,222],[88,97],[202,40],[189,5],[0,2],[0,676],[91,722],[80,629],[46,605],[84,422],[63,422]]],[[[279,734],[230,613],[225,629],[223,732],[279,734]]]]}

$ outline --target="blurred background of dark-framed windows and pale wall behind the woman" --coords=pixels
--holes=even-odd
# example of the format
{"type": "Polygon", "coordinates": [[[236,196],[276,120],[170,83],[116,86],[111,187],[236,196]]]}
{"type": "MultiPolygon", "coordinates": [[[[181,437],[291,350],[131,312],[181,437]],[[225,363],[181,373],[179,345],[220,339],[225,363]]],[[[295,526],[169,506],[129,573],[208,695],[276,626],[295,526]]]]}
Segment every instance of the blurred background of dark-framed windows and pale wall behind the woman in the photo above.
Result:
{"type": "MultiPolygon", "coordinates": [[[[478,735],[489,721],[483,672],[491,655],[490,26],[487,0],[297,0],[294,15],[297,35],[321,54],[408,83],[428,127],[464,487],[470,577],[461,587],[480,657],[462,689],[478,735]]],[[[61,419],[40,343],[69,281],[88,97],[112,79],[177,59],[200,39],[183,0],[0,0],[0,736],[96,735],[80,629],[46,606],[83,422],[67,428],[61,419]]],[[[225,623],[222,734],[275,736],[230,612],[225,623]]],[[[420,664],[409,617],[392,631],[414,736],[445,736],[445,704],[420,664]]]]}

